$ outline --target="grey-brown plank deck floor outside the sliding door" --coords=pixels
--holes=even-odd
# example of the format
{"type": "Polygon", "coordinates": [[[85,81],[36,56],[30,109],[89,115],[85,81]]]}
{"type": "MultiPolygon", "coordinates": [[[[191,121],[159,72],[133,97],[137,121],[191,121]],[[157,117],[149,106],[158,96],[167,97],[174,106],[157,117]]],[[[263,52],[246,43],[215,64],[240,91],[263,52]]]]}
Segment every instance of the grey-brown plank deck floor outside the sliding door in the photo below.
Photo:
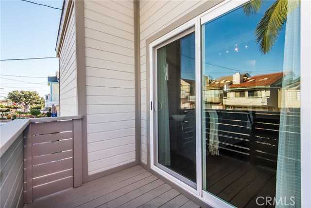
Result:
{"type": "Polygon", "coordinates": [[[140,166],[99,178],[24,208],[199,208],[140,166]]]}

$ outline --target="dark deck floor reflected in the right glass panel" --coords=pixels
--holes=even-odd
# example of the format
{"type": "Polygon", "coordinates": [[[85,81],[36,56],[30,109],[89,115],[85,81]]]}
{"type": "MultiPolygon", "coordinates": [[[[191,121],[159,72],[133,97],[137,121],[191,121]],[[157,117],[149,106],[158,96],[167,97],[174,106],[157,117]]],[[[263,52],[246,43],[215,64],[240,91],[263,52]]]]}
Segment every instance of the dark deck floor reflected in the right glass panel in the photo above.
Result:
{"type": "Polygon", "coordinates": [[[276,170],[224,155],[207,156],[207,170],[207,191],[239,208],[265,208],[257,197],[276,194],[276,170]]]}

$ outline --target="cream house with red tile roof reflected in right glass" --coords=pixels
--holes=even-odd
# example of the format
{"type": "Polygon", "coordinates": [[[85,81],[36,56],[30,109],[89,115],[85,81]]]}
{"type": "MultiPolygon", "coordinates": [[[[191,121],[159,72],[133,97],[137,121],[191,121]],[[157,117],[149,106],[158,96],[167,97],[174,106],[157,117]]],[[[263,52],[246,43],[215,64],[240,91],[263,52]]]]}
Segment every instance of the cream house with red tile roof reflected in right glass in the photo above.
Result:
{"type": "Polygon", "coordinates": [[[278,91],[282,87],[283,72],[256,75],[228,87],[224,104],[234,110],[249,107],[260,111],[279,111],[278,91]]]}

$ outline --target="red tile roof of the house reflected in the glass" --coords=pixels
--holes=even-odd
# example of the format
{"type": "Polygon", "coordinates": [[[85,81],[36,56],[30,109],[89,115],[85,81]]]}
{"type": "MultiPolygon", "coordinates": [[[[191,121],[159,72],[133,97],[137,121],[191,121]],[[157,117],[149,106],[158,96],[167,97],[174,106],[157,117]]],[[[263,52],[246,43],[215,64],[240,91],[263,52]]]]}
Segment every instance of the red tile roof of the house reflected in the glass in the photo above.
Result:
{"type": "Polygon", "coordinates": [[[256,75],[247,78],[241,84],[232,84],[229,88],[240,88],[240,87],[256,87],[256,86],[271,86],[278,80],[283,78],[283,72],[277,72],[272,74],[256,75]]]}

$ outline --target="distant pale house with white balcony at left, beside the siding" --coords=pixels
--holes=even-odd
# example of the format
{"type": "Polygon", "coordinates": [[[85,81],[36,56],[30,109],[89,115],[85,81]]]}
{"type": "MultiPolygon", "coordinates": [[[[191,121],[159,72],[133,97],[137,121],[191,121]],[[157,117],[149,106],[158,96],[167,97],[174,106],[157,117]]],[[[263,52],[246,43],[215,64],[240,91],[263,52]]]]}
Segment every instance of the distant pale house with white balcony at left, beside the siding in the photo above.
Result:
{"type": "Polygon", "coordinates": [[[55,76],[48,76],[48,86],[50,86],[50,94],[45,96],[45,107],[51,108],[53,105],[59,105],[59,72],[55,76]]]}

